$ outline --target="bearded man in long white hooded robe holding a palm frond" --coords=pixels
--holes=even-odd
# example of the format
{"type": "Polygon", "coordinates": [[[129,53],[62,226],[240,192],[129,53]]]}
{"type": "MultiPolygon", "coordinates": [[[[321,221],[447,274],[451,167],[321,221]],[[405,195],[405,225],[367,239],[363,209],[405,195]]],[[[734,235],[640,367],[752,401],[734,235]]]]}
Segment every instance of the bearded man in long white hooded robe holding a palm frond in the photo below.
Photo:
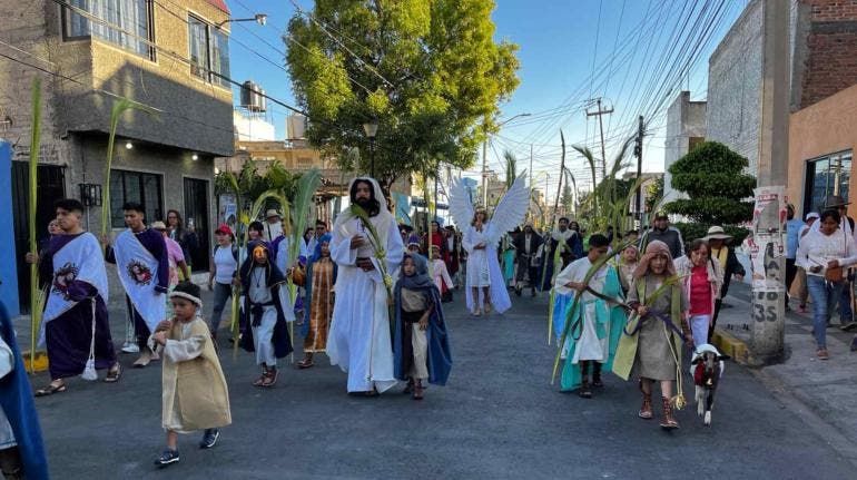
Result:
{"type": "Polygon", "coordinates": [[[355,178],[348,190],[371,225],[346,209],[333,227],[331,257],[338,272],[327,356],[348,373],[349,393],[376,395],[396,384],[387,301],[404,245],[375,179],[355,178]]]}

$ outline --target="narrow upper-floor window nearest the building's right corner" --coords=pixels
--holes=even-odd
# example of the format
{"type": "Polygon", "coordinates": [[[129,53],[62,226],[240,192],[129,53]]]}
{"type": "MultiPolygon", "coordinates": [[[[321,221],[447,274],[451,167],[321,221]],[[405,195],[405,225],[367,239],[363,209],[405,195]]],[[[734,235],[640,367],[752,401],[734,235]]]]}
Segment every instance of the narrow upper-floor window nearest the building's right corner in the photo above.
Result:
{"type": "Polygon", "coordinates": [[[219,28],[194,16],[188,17],[187,28],[193,63],[190,74],[205,81],[229,87],[229,81],[223,78],[229,76],[229,37],[219,28]]]}

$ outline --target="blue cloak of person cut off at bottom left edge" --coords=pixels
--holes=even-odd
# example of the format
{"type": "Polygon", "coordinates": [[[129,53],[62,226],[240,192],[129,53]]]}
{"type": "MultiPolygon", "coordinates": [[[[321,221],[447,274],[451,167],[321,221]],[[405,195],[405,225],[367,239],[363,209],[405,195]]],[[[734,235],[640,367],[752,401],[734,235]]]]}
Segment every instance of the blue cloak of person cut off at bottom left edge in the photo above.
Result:
{"type": "Polygon", "coordinates": [[[14,370],[0,379],[0,406],[12,425],[24,477],[31,480],[48,479],[48,459],[41,440],[41,428],[36,405],[32,402],[32,389],[27,371],[21,361],[21,353],[14,340],[12,321],[6,305],[0,303],[0,334],[12,350],[14,370]]]}

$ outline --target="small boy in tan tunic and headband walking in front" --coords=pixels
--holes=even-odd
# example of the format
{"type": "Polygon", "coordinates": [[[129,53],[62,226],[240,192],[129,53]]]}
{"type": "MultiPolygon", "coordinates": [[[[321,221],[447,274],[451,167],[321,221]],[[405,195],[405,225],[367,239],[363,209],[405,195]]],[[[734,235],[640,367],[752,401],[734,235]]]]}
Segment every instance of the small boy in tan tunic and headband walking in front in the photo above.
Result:
{"type": "Polygon", "coordinates": [[[167,449],[155,460],[166,467],[179,461],[178,434],[205,430],[199,448],[210,449],[220,427],[232,423],[229,392],[208,324],[199,317],[199,286],[181,282],[169,294],[174,316],[158,324],[149,347],[164,347],[161,424],[167,449]]]}

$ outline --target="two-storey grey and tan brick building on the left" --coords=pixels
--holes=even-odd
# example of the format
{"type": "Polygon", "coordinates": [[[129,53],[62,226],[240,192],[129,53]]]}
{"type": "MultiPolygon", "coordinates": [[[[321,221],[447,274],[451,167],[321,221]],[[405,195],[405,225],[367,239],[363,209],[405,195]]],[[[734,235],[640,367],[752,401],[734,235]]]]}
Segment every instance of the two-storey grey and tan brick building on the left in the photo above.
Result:
{"type": "MultiPolygon", "coordinates": [[[[229,75],[223,0],[0,0],[0,119],[8,119],[0,136],[16,160],[28,159],[30,85],[42,80],[39,225],[51,217],[52,199],[88,192],[86,226],[99,231],[98,192],[109,182],[114,232],[124,228],[127,200],[142,203],[149,221],[178,209],[206,245],[194,267],[207,268],[214,158],[233,153],[232,90],[220,77],[229,75]],[[124,115],[105,178],[110,111],[120,97],[159,114],[124,115]]],[[[26,163],[13,161],[12,176],[21,253],[26,163]]]]}

